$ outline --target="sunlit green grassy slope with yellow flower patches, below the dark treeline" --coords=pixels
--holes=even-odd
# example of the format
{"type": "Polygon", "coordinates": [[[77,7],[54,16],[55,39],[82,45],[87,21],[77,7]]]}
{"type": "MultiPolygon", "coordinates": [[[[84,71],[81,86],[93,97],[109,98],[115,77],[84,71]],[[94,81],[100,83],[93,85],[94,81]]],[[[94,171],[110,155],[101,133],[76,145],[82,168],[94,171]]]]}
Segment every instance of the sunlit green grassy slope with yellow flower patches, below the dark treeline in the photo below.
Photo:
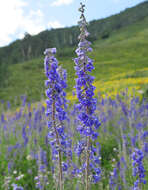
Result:
{"type": "MultiPolygon", "coordinates": [[[[93,44],[94,51],[90,57],[95,60],[93,75],[96,92],[114,95],[125,88],[129,88],[130,92],[133,88],[136,91],[147,91],[147,24],[148,17],[139,23],[114,31],[108,39],[98,39],[93,44]]],[[[69,99],[72,99],[75,83],[73,50],[74,48],[65,49],[66,56],[58,57],[59,63],[67,69],[69,99]]],[[[16,96],[19,97],[22,94],[26,94],[29,101],[39,101],[42,97],[44,98],[46,78],[43,60],[44,58],[41,57],[9,66],[9,76],[6,86],[0,89],[0,99],[14,100],[16,96]]]]}

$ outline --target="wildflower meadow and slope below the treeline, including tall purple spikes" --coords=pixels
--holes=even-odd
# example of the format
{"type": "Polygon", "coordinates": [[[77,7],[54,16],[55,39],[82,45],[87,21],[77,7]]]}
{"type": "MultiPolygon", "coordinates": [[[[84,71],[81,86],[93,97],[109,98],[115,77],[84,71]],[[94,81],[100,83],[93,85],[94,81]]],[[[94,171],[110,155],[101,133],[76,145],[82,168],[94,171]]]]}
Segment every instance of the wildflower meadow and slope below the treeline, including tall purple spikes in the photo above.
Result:
{"type": "Polygon", "coordinates": [[[50,47],[44,64],[8,68],[0,190],[148,189],[148,19],[92,45],[82,3],[79,12],[67,56],[50,47]]]}

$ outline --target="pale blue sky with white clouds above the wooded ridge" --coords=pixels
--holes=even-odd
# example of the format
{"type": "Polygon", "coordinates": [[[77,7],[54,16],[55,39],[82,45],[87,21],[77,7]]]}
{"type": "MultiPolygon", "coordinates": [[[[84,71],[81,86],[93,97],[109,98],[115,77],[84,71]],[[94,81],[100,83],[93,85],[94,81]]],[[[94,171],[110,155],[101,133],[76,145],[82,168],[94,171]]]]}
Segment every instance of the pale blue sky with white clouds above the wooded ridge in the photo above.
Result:
{"type": "Polygon", "coordinates": [[[106,18],[144,0],[0,0],[0,47],[27,32],[31,35],[76,25],[80,2],[86,5],[86,19],[106,18]]]}

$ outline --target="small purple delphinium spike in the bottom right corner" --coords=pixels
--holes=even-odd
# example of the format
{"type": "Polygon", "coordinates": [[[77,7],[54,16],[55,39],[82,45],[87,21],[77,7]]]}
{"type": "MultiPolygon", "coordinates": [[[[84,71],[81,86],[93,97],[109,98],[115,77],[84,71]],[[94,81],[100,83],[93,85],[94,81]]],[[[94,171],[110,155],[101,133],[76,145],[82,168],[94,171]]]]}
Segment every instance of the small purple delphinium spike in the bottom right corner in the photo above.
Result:
{"type": "Polygon", "coordinates": [[[136,177],[133,190],[142,190],[142,184],[146,184],[143,159],[144,154],[142,150],[135,148],[135,151],[132,153],[133,176],[136,177]]]}

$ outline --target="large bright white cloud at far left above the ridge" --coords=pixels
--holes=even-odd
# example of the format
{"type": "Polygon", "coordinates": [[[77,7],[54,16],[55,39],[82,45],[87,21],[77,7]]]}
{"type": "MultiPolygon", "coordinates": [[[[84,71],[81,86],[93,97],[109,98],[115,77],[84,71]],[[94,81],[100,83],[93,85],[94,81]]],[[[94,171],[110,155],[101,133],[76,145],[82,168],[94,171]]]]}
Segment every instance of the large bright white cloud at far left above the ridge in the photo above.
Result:
{"type": "Polygon", "coordinates": [[[24,12],[25,0],[4,0],[0,6],[0,46],[7,45],[18,34],[23,37],[25,32],[37,34],[45,29],[43,13],[40,10],[24,12]]]}

